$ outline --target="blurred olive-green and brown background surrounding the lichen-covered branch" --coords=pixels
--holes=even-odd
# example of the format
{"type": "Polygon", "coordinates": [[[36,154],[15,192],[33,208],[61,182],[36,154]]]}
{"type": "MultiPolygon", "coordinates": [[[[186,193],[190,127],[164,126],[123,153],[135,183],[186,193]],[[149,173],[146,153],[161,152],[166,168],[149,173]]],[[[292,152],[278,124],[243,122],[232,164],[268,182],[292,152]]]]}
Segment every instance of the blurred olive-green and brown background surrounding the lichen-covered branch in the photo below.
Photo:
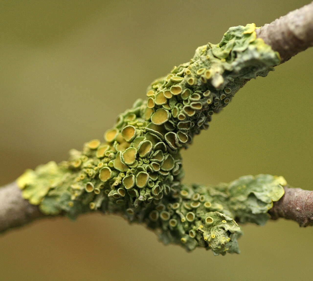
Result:
{"type": "MultiPolygon", "coordinates": [[[[68,158],[146,86],[230,26],[309,1],[0,2],[0,185],[68,158]]],[[[283,175],[313,189],[313,48],[250,81],[183,151],[185,183],[283,175]]],[[[241,254],[164,246],[113,215],[44,219],[0,236],[0,280],[311,280],[313,228],[245,225],[241,254]]]]}

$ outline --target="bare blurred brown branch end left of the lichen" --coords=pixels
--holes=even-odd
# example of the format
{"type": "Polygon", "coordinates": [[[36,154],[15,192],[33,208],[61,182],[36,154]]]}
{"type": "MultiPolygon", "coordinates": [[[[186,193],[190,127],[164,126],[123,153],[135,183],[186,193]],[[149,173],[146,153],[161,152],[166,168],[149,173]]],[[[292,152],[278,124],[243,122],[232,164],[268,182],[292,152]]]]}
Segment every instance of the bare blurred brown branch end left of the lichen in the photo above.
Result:
{"type": "Polygon", "coordinates": [[[22,198],[16,182],[0,188],[0,232],[43,217],[38,206],[22,198]]]}

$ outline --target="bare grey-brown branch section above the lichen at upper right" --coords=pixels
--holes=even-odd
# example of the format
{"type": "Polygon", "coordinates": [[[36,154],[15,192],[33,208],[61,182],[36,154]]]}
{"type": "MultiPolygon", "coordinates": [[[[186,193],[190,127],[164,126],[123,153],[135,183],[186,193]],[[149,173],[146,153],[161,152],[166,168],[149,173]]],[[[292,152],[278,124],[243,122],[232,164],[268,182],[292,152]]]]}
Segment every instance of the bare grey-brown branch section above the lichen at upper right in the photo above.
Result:
{"type": "Polygon", "coordinates": [[[313,46],[313,2],[265,24],[255,32],[257,37],[279,52],[281,63],[288,61],[313,46]]]}

